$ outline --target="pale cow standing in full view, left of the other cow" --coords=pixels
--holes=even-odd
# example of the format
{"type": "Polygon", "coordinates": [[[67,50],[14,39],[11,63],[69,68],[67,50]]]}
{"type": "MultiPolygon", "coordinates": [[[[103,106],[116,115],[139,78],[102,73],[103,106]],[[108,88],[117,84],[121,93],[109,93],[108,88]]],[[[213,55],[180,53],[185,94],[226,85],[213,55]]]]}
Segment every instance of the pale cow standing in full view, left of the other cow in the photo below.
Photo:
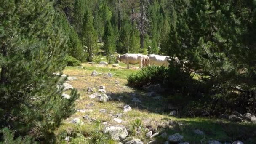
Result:
{"type": "Polygon", "coordinates": [[[117,61],[122,61],[126,64],[127,69],[129,69],[129,64],[139,64],[139,68],[143,65],[143,55],[142,54],[133,54],[133,53],[126,53],[123,55],[118,54],[117,61]]]}

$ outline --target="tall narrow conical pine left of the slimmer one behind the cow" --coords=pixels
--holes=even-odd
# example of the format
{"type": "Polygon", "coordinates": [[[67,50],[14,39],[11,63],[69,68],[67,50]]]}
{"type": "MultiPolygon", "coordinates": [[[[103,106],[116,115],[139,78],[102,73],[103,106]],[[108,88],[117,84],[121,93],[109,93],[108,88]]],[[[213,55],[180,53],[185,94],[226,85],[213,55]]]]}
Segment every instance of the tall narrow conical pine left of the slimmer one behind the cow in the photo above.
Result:
{"type": "Polygon", "coordinates": [[[89,8],[86,8],[86,12],[84,15],[81,39],[83,45],[87,46],[88,48],[87,60],[91,61],[93,53],[98,52],[98,49],[96,47],[98,37],[93,25],[93,15],[91,13],[91,9],[89,8]]]}

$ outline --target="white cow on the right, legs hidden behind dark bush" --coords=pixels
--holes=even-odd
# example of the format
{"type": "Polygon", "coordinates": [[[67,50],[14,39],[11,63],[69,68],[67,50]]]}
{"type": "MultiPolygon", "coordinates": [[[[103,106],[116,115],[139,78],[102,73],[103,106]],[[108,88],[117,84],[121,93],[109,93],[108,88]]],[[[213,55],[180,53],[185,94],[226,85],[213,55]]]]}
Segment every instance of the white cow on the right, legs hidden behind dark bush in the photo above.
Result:
{"type": "Polygon", "coordinates": [[[150,65],[158,65],[158,66],[168,66],[169,65],[170,56],[160,56],[156,54],[150,54],[148,56],[149,66],[150,65]]]}

